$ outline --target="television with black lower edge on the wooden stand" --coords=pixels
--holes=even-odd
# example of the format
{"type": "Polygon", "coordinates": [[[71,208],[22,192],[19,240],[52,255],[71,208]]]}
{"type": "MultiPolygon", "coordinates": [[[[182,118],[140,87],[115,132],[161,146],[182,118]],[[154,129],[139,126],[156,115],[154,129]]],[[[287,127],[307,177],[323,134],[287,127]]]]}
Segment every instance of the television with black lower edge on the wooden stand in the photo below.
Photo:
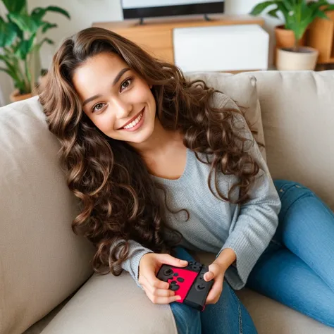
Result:
{"type": "MultiPolygon", "coordinates": [[[[223,13],[225,0],[122,0],[123,17],[153,18],[223,13]]],[[[207,18],[207,17],[206,17],[207,18]]]]}

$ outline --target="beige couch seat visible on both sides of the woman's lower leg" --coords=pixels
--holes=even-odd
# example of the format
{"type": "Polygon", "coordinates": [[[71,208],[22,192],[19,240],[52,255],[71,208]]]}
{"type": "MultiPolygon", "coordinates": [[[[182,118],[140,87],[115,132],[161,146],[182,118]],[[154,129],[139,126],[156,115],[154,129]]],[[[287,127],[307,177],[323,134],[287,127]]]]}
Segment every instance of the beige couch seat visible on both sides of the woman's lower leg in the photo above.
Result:
{"type": "MultiPolygon", "coordinates": [[[[214,254],[191,253],[207,265],[215,259],[214,254]]],[[[244,288],[237,295],[259,334],[334,334],[334,328],[257,292],[244,288]]],[[[51,312],[49,317],[53,319],[44,330],[47,318],[24,334],[177,333],[170,307],[152,304],[125,272],[117,278],[92,276],[56,316],[51,312]]]]}

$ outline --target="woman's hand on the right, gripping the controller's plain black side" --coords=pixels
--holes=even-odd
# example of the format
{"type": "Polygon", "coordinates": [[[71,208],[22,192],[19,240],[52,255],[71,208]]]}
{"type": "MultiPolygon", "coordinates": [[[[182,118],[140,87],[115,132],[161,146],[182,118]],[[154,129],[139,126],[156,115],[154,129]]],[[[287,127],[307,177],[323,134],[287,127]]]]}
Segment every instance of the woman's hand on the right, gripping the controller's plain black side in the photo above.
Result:
{"type": "Polygon", "coordinates": [[[214,261],[209,266],[209,271],[204,274],[204,280],[209,282],[209,280],[214,280],[214,285],[212,285],[208,297],[206,297],[205,304],[216,304],[219,297],[221,297],[221,292],[223,291],[223,281],[225,276],[225,266],[214,261]]]}

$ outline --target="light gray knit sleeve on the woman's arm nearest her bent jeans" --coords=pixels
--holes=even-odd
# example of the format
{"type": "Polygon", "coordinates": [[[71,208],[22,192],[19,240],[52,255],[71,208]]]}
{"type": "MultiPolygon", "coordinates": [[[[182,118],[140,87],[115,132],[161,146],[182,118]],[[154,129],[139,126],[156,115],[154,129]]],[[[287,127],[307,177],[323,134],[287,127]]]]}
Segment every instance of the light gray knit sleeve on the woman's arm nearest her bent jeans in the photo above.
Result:
{"type": "MultiPolygon", "coordinates": [[[[248,133],[252,136],[250,131],[248,133]]],[[[268,167],[255,141],[249,153],[259,163],[260,171],[250,190],[249,201],[237,206],[237,218],[233,219],[228,238],[216,256],[226,248],[233,249],[237,255],[235,265],[230,266],[225,273],[235,290],[245,286],[249,273],[273,237],[281,206],[268,167]]]]}

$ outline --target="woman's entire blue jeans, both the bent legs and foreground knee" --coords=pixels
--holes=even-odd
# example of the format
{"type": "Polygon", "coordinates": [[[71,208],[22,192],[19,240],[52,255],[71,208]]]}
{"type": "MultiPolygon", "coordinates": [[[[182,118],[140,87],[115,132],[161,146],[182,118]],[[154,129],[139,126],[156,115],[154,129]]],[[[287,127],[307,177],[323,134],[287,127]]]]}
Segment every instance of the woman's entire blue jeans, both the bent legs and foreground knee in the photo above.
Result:
{"type": "MultiPolygon", "coordinates": [[[[334,214],[314,192],[276,180],[282,202],[279,225],[247,281],[247,287],[334,327],[334,214]]],[[[190,261],[184,249],[176,257],[190,261]]],[[[256,333],[252,318],[224,282],[216,304],[203,312],[170,304],[179,334],[256,333]]]]}

